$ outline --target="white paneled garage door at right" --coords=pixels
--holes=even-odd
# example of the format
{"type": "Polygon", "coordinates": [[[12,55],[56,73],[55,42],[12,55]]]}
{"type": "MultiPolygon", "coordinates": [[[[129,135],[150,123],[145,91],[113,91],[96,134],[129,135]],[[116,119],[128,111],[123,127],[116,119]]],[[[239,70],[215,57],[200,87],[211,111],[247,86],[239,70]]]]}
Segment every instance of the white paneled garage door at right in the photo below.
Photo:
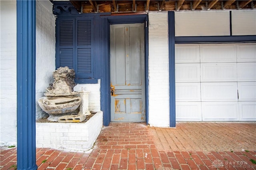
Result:
{"type": "Polygon", "coordinates": [[[175,46],[176,121],[256,121],[256,43],[175,46]]]}

